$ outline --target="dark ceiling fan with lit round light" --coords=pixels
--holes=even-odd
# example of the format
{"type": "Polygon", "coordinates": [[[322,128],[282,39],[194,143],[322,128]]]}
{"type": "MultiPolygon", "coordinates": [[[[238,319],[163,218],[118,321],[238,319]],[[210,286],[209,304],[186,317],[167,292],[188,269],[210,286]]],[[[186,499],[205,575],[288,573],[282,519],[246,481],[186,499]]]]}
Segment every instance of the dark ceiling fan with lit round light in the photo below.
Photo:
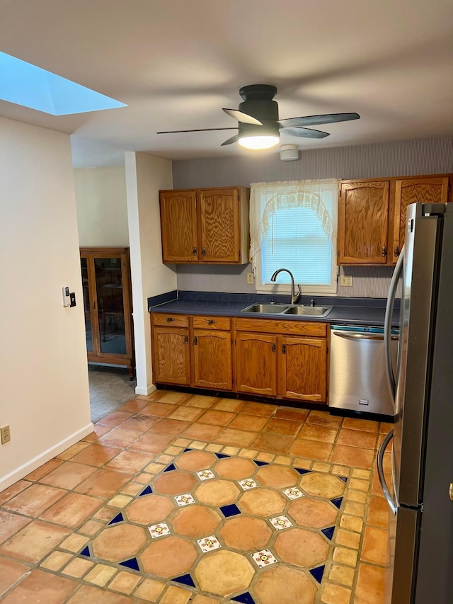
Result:
{"type": "MultiPolygon", "coordinates": [[[[306,126],[332,124],[359,120],[358,113],[326,113],[324,115],[306,115],[302,118],[279,120],[278,104],[273,101],[277,89],[268,84],[251,84],[239,90],[243,102],[239,109],[224,109],[231,118],[238,120],[238,133],[222,142],[226,144],[239,142],[248,149],[268,149],[277,144],[280,133],[290,136],[321,139],[328,137],[329,132],[314,130],[306,126]]],[[[212,130],[236,130],[236,128],[200,128],[197,130],[168,130],[157,132],[158,135],[176,134],[178,132],[207,132],[212,130]]]]}

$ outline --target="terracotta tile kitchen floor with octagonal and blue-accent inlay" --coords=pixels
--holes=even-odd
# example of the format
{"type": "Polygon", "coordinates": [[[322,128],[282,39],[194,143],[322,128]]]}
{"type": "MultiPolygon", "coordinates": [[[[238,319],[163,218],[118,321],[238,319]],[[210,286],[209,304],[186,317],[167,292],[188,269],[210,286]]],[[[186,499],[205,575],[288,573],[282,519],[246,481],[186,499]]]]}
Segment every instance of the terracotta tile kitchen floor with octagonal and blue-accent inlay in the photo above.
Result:
{"type": "Polygon", "coordinates": [[[0,493],[0,599],[382,604],[374,465],[389,428],[165,390],[132,399],[0,493]]]}

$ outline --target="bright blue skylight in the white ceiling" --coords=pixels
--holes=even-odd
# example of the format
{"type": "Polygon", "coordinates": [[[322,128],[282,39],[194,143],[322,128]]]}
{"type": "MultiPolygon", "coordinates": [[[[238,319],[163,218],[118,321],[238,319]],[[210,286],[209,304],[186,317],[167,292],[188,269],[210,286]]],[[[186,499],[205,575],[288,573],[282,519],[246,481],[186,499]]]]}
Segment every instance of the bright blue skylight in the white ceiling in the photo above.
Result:
{"type": "Polygon", "coordinates": [[[0,99],[50,115],[127,107],[114,98],[0,52],[0,99]]]}

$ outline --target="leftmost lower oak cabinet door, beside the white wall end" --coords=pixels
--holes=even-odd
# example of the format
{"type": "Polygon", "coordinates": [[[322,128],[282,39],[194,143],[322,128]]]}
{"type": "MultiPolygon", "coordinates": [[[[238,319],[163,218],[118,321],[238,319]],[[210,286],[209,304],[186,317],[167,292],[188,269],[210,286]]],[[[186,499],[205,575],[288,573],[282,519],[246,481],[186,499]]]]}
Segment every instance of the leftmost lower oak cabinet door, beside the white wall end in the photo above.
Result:
{"type": "Polygon", "coordinates": [[[154,327],[154,382],[190,384],[189,330],[186,328],[154,327]]]}

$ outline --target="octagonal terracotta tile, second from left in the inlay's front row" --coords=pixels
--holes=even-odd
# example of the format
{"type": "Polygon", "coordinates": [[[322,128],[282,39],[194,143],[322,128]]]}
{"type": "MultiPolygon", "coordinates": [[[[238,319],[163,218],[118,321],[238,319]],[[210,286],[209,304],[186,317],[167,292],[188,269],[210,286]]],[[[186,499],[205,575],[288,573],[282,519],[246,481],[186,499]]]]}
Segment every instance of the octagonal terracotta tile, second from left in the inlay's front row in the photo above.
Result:
{"type": "Polygon", "coordinates": [[[197,555],[190,541],[171,535],[152,542],[140,559],[145,572],[169,579],[186,573],[197,555]]]}

